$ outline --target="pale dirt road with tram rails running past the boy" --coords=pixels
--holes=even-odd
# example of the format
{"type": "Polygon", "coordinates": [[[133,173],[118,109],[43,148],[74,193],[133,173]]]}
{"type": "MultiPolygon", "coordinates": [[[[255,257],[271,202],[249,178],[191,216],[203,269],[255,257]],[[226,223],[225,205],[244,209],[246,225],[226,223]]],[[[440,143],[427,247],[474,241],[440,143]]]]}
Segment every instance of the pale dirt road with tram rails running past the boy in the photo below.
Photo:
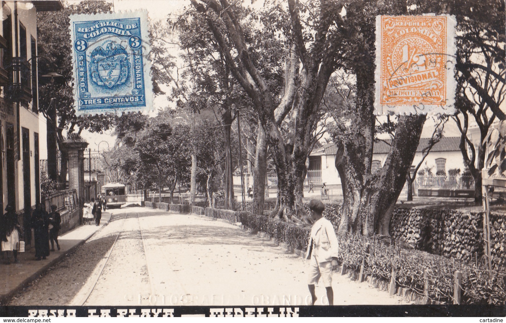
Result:
{"type": "MultiPolygon", "coordinates": [[[[307,262],[236,225],[128,208],[9,305],[308,305],[307,262]],[[128,212],[125,214],[125,212],[128,212]],[[119,233],[119,235],[118,235],[119,233]],[[117,239],[117,241],[116,241],[117,239]]],[[[408,304],[333,275],[335,305],[408,304]]],[[[327,304],[316,287],[317,305],[327,304]]]]}

